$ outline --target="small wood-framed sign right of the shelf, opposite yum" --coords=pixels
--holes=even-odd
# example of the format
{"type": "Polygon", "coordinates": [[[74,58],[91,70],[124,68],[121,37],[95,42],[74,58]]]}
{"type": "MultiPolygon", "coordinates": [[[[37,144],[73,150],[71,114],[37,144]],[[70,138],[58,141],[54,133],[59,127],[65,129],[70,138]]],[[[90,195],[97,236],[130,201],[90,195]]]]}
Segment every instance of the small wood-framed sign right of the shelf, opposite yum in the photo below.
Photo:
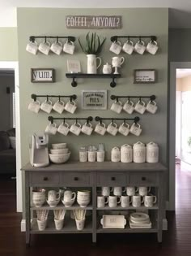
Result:
{"type": "Polygon", "coordinates": [[[155,69],[135,69],[134,84],[153,84],[156,82],[155,69]]]}

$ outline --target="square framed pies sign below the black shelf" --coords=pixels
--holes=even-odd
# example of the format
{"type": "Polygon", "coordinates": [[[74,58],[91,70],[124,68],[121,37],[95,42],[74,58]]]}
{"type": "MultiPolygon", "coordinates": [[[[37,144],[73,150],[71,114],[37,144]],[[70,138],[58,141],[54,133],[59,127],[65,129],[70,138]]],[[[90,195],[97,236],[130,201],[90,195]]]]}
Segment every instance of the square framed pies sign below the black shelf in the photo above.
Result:
{"type": "Polygon", "coordinates": [[[83,90],[83,110],[107,110],[107,90],[83,90]]]}

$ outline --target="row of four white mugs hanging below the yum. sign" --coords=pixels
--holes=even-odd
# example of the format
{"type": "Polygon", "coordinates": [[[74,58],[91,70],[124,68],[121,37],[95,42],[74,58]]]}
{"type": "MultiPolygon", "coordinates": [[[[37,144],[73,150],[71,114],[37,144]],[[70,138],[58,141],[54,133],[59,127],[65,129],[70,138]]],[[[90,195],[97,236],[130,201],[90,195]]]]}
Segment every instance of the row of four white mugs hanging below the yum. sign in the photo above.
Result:
{"type": "Polygon", "coordinates": [[[45,102],[42,102],[41,104],[39,101],[33,100],[33,102],[30,102],[28,105],[28,110],[36,114],[40,110],[45,111],[48,114],[50,114],[52,110],[56,111],[59,114],[62,114],[64,110],[71,114],[74,114],[76,109],[77,109],[77,106],[74,100],[69,100],[68,102],[66,102],[66,105],[65,105],[65,102],[63,102],[62,100],[58,100],[54,104],[49,99],[46,99],[45,102]]]}

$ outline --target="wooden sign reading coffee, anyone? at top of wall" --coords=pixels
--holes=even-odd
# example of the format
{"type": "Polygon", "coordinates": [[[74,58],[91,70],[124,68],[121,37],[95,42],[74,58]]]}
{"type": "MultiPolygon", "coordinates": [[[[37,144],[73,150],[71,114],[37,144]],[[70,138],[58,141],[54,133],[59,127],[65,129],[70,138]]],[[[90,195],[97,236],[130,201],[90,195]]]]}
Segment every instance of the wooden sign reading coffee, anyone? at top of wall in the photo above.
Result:
{"type": "Polygon", "coordinates": [[[66,28],[117,29],[121,28],[121,16],[67,15],[66,28]]]}

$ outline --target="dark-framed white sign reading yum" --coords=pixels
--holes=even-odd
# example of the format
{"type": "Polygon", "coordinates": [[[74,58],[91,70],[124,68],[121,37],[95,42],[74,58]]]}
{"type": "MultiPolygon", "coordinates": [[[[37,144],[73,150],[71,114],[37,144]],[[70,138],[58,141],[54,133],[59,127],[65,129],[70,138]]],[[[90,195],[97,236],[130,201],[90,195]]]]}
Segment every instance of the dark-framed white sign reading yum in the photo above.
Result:
{"type": "Polygon", "coordinates": [[[32,68],[31,82],[32,83],[53,83],[54,69],[53,68],[32,68]]]}

